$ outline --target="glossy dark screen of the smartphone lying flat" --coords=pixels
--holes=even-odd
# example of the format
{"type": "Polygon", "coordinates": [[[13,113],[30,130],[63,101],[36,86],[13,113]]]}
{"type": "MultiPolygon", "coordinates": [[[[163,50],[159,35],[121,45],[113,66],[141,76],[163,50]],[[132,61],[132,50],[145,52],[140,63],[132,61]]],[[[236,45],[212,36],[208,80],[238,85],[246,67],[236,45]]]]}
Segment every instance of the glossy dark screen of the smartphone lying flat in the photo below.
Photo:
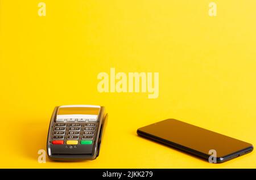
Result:
{"type": "Polygon", "coordinates": [[[146,136],[162,139],[172,144],[179,144],[185,148],[209,155],[214,149],[217,157],[228,156],[232,153],[249,148],[252,145],[238,139],[230,138],[217,132],[193,126],[176,119],[167,119],[139,128],[146,136]]]}

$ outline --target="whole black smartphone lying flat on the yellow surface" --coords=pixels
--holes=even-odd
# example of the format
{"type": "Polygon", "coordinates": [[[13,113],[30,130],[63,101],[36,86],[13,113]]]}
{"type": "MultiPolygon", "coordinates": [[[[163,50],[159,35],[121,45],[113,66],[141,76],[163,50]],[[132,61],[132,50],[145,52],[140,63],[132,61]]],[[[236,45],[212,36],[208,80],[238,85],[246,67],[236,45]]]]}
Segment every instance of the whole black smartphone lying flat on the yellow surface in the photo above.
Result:
{"type": "Polygon", "coordinates": [[[141,127],[137,134],[211,163],[221,163],[253,151],[253,145],[177,119],[141,127]]]}

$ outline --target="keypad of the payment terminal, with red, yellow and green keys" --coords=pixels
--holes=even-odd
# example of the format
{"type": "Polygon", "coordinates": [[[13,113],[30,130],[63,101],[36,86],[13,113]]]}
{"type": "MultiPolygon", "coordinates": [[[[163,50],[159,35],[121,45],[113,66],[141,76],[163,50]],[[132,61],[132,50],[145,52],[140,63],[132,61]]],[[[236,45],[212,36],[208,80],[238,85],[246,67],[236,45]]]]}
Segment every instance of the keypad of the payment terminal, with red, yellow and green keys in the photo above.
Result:
{"type": "Polygon", "coordinates": [[[98,122],[95,120],[57,119],[53,124],[51,143],[72,145],[93,144],[98,126],[98,122]]]}

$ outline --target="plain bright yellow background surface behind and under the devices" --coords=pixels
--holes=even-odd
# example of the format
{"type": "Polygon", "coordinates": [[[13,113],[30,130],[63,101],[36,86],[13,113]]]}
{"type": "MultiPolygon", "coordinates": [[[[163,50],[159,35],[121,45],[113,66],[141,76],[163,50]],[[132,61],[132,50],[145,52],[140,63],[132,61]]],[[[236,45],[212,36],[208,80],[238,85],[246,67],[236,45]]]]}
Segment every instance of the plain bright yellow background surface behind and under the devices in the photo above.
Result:
{"type": "Polygon", "coordinates": [[[256,1],[0,0],[0,168],[256,168],[256,153],[209,164],[137,136],[180,119],[256,144],[256,1]],[[159,97],[99,93],[97,75],[159,72],[159,97]],[[38,163],[57,105],[108,109],[94,161],[38,163]]]}

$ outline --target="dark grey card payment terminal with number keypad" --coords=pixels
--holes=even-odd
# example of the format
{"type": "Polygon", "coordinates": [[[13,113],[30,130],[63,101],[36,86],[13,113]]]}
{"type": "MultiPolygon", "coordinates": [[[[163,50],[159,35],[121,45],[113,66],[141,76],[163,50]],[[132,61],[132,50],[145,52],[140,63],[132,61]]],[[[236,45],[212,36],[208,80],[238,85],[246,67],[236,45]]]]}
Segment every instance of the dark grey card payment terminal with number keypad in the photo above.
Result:
{"type": "Polygon", "coordinates": [[[94,160],[100,153],[108,114],[104,106],[57,106],[52,114],[47,138],[51,160],[94,160]]]}

